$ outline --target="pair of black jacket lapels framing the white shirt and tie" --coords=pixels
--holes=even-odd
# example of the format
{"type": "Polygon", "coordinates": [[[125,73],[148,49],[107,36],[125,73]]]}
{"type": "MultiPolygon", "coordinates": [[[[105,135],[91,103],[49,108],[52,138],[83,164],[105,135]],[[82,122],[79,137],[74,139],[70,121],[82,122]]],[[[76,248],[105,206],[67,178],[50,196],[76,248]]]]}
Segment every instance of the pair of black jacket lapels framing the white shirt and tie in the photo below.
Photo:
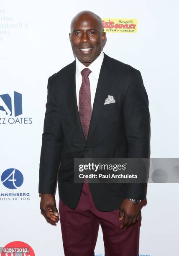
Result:
{"type": "Polygon", "coordinates": [[[78,105],[77,105],[77,94],[76,94],[76,61],[73,61],[69,70],[68,80],[65,85],[66,91],[66,98],[68,101],[69,111],[74,122],[74,125],[77,127],[77,131],[80,131],[82,139],[84,142],[88,143],[92,137],[92,134],[95,131],[97,122],[100,118],[100,113],[104,106],[105,99],[107,97],[107,93],[110,89],[111,82],[113,79],[113,74],[111,70],[114,68],[111,65],[110,57],[108,57],[104,53],[104,59],[102,62],[100,76],[97,83],[96,93],[95,93],[95,100],[93,103],[92,109],[92,117],[90,122],[90,128],[87,136],[87,141],[85,141],[82,125],[79,119],[79,112],[78,112],[78,105]]]}

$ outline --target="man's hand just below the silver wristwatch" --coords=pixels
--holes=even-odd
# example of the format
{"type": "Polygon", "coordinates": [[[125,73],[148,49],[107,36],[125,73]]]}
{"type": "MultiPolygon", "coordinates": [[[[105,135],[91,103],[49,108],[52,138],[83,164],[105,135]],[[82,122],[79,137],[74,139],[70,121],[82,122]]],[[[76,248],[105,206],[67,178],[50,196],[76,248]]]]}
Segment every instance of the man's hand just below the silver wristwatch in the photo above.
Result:
{"type": "Polygon", "coordinates": [[[129,228],[136,224],[141,217],[141,205],[135,204],[133,201],[125,198],[120,205],[119,220],[123,220],[123,224],[120,228],[129,228]]]}

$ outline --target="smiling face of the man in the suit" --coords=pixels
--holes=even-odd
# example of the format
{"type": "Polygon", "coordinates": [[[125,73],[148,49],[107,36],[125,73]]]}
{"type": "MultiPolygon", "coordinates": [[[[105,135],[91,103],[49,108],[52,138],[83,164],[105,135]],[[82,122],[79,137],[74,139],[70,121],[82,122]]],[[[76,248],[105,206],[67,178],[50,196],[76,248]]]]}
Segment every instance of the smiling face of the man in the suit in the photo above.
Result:
{"type": "Polygon", "coordinates": [[[81,15],[73,21],[69,38],[74,54],[88,67],[101,53],[105,32],[96,17],[81,15]]]}

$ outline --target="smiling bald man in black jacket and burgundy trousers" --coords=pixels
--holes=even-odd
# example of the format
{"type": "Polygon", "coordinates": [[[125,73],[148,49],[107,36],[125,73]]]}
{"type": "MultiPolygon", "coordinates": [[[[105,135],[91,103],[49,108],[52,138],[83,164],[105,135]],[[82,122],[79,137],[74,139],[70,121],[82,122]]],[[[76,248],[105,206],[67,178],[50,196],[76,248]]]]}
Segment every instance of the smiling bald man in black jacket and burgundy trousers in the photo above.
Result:
{"type": "Polygon", "coordinates": [[[145,184],[74,183],[74,158],[148,158],[148,97],[141,73],[103,53],[105,32],[95,13],[78,13],[69,38],[76,59],[48,81],[40,208],[56,221],[58,176],[65,255],[94,255],[100,224],[106,256],[136,256],[145,184]]]}

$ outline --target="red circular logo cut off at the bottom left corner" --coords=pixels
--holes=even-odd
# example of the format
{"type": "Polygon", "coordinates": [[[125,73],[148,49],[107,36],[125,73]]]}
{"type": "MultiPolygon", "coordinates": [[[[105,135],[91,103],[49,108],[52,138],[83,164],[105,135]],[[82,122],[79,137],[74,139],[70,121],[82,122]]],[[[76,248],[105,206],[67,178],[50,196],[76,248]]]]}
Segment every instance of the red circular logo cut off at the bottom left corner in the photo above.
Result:
{"type": "Polygon", "coordinates": [[[13,241],[3,247],[1,256],[35,256],[33,248],[22,241],[13,241]]]}

